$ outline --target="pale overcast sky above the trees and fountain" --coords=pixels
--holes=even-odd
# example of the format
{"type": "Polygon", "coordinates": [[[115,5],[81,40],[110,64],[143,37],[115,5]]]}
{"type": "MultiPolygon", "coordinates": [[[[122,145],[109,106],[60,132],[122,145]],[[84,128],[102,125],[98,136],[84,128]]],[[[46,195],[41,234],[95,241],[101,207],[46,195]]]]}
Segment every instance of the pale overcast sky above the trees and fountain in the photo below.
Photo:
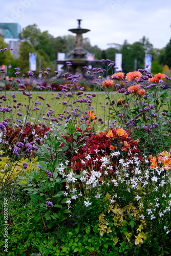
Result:
{"type": "Polygon", "coordinates": [[[37,24],[54,37],[72,34],[68,29],[91,31],[91,45],[102,50],[108,44],[130,44],[143,36],[155,48],[163,48],[171,37],[170,0],[7,0],[1,3],[0,22],[19,23],[22,28],[37,24]]]}

